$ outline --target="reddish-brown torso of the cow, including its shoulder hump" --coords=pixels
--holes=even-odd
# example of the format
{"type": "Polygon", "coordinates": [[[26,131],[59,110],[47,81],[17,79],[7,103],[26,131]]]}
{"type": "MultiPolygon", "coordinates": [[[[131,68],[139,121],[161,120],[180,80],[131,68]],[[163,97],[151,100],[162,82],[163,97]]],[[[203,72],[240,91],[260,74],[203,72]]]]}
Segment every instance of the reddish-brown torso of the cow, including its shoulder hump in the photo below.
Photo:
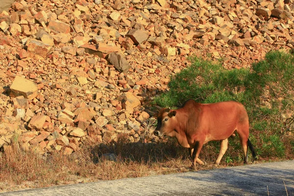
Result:
{"type": "Polygon", "coordinates": [[[205,135],[205,141],[226,139],[238,126],[248,126],[248,115],[239,102],[200,104],[188,100],[183,108],[189,114],[188,134],[195,137],[205,135]]]}

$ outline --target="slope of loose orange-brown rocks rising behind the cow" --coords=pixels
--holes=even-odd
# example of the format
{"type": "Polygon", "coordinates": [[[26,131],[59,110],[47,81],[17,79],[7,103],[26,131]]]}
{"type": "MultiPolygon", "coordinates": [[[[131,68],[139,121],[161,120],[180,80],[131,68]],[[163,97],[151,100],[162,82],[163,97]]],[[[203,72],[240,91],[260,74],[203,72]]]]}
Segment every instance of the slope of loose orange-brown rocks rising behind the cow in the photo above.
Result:
{"type": "Polygon", "coordinates": [[[152,141],[150,100],[189,56],[250,67],[293,48],[293,17],[293,0],[17,0],[0,14],[0,147],[152,141]]]}

